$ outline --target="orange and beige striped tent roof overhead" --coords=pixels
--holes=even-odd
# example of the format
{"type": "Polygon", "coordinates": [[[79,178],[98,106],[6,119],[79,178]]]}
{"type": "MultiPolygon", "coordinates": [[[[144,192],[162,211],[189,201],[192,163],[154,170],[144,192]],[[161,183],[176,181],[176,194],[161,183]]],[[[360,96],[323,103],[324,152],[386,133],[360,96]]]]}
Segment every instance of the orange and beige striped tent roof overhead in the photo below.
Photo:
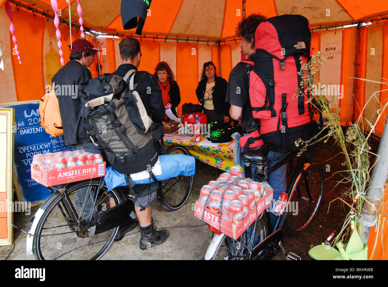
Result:
{"type": "MultiPolygon", "coordinates": [[[[52,12],[50,0],[23,2],[52,12]]],[[[63,17],[68,16],[66,0],[57,0],[63,17]]],[[[342,25],[366,21],[388,14],[388,1],[327,0],[322,5],[314,0],[152,0],[143,34],[225,39],[235,35],[245,2],[246,15],[260,13],[266,17],[301,14],[312,27],[342,25]]],[[[72,20],[78,20],[76,0],[71,0],[72,20]]],[[[123,30],[120,16],[121,0],[81,0],[84,26],[106,33],[135,33],[123,30]]]]}

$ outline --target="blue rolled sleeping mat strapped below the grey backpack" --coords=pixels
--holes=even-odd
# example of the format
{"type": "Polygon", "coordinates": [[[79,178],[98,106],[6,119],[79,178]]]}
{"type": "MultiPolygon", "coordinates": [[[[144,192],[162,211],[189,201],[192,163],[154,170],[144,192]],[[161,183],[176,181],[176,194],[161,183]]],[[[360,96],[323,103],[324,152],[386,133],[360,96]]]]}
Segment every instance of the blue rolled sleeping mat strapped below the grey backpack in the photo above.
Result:
{"type": "MultiPolygon", "coordinates": [[[[159,161],[161,174],[154,172],[152,168],[152,172],[154,172],[157,180],[167,180],[178,175],[192,176],[195,174],[194,156],[187,156],[185,154],[165,154],[159,156],[159,161]]],[[[154,180],[149,177],[148,173],[145,173],[145,177],[141,179],[139,176],[134,179],[133,175],[131,175],[131,178],[134,184],[154,182],[154,180]]],[[[106,168],[104,180],[108,190],[118,186],[127,186],[124,174],[117,172],[112,166],[106,168]]]]}

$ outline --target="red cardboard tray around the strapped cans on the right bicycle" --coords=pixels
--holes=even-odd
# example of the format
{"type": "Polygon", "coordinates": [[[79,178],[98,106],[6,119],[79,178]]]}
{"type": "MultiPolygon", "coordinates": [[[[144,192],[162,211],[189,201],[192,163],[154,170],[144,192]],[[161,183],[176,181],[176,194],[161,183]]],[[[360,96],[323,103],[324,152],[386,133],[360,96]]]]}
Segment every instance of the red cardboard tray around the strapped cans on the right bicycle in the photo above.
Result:
{"type": "Polygon", "coordinates": [[[214,228],[221,230],[227,236],[237,239],[257,218],[258,215],[267,208],[272,202],[273,191],[270,190],[265,196],[260,198],[257,203],[257,208],[249,212],[248,216],[242,220],[240,224],[232,224],[227,219],[220,217],[220,214],[211,211],[208,207],[204,207],[199,201],[195,203],[194,215],[203,221],[210,224],[214,228]],[[221,221],[221,228],[220,228],[221,221]]]}

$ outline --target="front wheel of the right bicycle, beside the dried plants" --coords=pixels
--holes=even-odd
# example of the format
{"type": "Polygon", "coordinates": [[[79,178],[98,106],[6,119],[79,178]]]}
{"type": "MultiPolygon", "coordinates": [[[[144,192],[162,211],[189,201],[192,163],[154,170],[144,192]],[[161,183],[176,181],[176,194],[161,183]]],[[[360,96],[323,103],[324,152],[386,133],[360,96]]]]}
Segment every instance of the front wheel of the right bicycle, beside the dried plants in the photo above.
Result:
{"type": "Polygon", "coordinates": [[[322,201],[325,175],[320,165],[310,165],[301,172],[289,198],[295,212],[287,213],[287,230],[292,234],[303,232],[313,221],[322,201]]]}

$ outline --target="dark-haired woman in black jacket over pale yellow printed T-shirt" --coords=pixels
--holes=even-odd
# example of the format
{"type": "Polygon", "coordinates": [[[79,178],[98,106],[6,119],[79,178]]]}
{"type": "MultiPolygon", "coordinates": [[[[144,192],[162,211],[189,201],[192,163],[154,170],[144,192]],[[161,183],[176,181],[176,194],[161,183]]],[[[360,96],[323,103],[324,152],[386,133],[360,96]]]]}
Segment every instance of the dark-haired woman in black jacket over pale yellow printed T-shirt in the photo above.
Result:
{"type": "Polygon", "coordinates": [[[229,122],[230,104],[225,102],[227,86],[228,82],[225,79],[217,77],[216,67],[212,61],[203,64],[196,94],[208,122],[229,122]]]}

